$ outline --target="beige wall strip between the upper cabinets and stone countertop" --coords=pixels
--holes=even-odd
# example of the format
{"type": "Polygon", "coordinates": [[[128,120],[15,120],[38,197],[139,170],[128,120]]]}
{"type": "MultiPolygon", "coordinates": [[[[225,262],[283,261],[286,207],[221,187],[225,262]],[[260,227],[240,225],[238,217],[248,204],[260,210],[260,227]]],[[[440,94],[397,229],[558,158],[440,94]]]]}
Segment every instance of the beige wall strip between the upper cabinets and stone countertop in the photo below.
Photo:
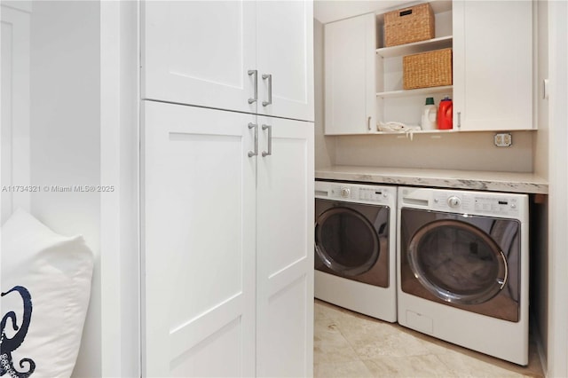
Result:
{"type": "Polygon", "coordinates": [[[512,133],[496,147],[491,132],[335,137],[335,164],[396,168],[533,171],[533,132],[512,133]]]}

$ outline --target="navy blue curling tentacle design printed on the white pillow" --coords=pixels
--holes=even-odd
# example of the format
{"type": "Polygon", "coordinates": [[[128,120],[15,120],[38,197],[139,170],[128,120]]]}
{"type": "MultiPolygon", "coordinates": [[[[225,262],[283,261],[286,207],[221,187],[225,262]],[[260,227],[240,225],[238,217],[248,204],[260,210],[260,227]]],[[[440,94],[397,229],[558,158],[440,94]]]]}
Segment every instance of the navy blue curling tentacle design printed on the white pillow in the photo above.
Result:
{"type": "MultiPolygon", "coordinates": [[[[18,349],[20,345],[24,343],[26,334],[28,334],[29,323],[32,319],[32,297],[29,294],[28,289],[21,286],[12,287],[12,289],[2,293],[2,296],[8,295],[12,292],[20,294],[24,305],[24,312],[20,327],[18,326],[18,319],[16,319],[16,313],[14,311],[8,311],[2,318],[2,322],[0,322],[0,327],[2,327],[2,336],[0,336],[0,376],[8,374],[13,378],[27,378],[34,373],[34,370],[36,370],[36,363],[31,358],[22,358],[19,364],[20,369],[24,369],[27,364],[28,371],[20,373],[14,368],[12,351],[18,349]],[[6,335],[6,323],[8,323],[8,320],[12,323],[11,326],[13,331],[17,331],[15,335],[12,335],[12,337],[8,337],[8,335],[6,335]]],[[[12,332],[9,334],[11,333],[12,332]]]]}

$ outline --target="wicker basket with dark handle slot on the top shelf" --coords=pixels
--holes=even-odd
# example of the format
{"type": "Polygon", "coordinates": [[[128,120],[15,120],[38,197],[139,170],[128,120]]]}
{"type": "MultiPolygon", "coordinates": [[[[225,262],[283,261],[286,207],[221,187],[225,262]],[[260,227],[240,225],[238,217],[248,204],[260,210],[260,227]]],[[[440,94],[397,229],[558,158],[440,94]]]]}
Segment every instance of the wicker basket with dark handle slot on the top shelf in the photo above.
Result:
{"type": "Polygon", "coordinates": [[[434,13],[430,3],[384,13],[385,47],[431,38],[434,38],[434,13]]]}

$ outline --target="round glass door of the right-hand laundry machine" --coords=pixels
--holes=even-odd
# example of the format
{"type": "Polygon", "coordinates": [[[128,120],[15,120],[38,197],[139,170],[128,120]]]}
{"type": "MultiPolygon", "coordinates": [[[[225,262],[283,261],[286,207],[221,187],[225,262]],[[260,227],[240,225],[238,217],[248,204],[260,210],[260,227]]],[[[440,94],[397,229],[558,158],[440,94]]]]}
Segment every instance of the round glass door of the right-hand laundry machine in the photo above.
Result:
{"type": "Polygon", "coordinates": [[[507,259],[475,225],[459,220],[425,224],[410,240],[408,262],[431,294],[451,303],[484,303],[507,283],[507,259]]]}

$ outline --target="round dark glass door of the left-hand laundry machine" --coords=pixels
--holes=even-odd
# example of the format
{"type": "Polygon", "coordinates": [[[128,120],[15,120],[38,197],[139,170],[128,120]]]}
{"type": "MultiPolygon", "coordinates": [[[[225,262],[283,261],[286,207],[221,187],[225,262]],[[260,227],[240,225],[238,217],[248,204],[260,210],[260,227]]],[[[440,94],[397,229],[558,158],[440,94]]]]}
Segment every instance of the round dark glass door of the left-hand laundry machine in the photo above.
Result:
{"type": "Polygon", "coordinates": [[[327,268],[350,277],[370,270],[381,252],[373,224],[359,211],[343,207],[318,217],[315,249],[327,268]]]}

